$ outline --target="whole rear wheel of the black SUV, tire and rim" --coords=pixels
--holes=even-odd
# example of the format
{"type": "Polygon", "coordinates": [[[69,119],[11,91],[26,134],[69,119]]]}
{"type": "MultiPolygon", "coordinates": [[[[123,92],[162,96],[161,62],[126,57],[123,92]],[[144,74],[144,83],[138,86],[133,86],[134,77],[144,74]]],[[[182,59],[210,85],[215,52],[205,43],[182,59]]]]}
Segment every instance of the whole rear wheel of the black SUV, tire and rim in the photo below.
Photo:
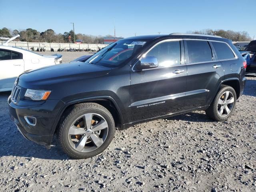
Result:
{"type": "Polygon", "coordinates": [[[216,121],[227,120],[236,107],[236,91],[234,88],[222,85],[211,105],[206,109],[206,115],[216,121]]]}

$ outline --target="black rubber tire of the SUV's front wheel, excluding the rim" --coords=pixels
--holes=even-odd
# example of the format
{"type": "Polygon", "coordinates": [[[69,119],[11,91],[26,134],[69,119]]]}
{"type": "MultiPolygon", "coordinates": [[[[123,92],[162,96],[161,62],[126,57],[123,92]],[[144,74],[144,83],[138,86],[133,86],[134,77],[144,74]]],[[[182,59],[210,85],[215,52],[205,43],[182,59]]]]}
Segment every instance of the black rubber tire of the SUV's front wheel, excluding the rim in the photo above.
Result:
{"type": "Polygon", "coordinates": [[[111,113],[104,108],[103,106],[96,104],[96,103],[82,103],[74,105],[68,112],[64,114],[64,119],[60,122],[60,126],[58,127],[58,141],[62,150],[68,154],[68,156],[76,159],[84,159],[96,156],[102,153],[108,145],[111,143],[114,133],[115,133],[115,124],[114,119],[111,113]],[[91,152],[79,152],[72,148],[68,141],[68,130],[72,123],[78,118],[79,116],[86,114],[86,113],[97,113],[100,114],[102,117],[105,118],[108,124],[108,134],[104,143],[98,147],[97,149],[91,152]]]}

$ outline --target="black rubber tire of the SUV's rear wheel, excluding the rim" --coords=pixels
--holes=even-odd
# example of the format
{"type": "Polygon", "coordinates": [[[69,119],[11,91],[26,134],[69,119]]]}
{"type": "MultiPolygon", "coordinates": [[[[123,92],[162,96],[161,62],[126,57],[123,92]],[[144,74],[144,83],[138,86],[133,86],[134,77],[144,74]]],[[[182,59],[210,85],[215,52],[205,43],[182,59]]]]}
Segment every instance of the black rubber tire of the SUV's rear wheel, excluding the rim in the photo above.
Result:
{"type": "Polygon", "coordinates": [[[236,91],[231,86],[221,85],[220,90],[212,101],[211,105],[205,110],[206,115],[216,121],[226,121],[233,114],[234,109],[236,107],[236,91]],[[220,97],[224,94],[224,92],[230,91],[234,96],[234,104],[232,110],[230,110],[230,114],[225,117],[222,117],[218,114],[218,101],[220,97]]]}

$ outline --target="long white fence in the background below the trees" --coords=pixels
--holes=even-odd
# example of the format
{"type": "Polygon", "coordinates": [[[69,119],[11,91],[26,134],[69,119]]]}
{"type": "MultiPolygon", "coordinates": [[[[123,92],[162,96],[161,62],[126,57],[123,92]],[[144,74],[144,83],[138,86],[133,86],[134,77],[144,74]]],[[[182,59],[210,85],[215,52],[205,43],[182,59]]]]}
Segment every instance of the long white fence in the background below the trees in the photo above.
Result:
{"type": "MultiPolygon", "coordinates": [[[[0,42],[2,44],[2,42],[0,42]]],[[[74,43],[32,43],[32,42],[21,42],[21,41],[12,41],[8,43],[8,46],[15,46],[31,50],[32,47],[36,50],[37,48],[45,48],[45,50],[50,51],[51,48],[54,51],[60,49],[91,49],[98,51],[98,48],[104,48],[107,45],[105,44],[74,44],[74,43]]]]}

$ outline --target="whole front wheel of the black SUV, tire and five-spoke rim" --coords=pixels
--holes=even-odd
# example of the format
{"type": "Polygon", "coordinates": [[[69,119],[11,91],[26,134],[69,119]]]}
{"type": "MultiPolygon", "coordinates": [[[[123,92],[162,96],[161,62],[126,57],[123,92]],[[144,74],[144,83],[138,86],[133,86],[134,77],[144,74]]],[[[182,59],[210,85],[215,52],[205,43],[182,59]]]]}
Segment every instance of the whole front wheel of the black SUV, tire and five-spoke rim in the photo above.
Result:
{"type": "Polygon", "coordinates": [[[103,152],[113,139],[114,119],[96,103],[74,105],[59,127],[62,150],[72,158],[89,158],[103,152]]]}

